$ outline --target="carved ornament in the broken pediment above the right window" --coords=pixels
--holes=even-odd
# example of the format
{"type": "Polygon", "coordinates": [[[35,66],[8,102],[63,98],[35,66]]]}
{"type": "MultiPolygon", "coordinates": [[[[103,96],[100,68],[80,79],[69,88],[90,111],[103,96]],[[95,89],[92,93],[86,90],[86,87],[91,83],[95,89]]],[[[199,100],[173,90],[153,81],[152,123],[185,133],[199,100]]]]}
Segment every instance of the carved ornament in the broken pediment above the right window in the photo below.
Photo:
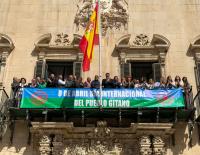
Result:
{"type": "Polygon", "coordinates": [[[133,41],[133,46],[149,46],[150,41],[149,37],[145,34],[140,34],[135,37],[135,40],[133,41]]]}

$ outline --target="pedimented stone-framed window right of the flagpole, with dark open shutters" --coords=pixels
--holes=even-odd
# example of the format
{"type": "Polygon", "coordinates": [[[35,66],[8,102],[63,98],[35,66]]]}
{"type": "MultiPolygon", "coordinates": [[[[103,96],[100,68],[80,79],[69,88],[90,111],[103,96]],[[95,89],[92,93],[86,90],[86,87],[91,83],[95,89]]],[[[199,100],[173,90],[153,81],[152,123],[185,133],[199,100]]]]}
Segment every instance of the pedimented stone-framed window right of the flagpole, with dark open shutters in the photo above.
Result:
{"type": "Polygon", "coordinates": [[[119,39],[115,51],[119,54],[121,77],[145,76],[155,81],[165,76],[165,58],[170,42],[154,34],[152,40],[145,34],[132,37],[130,34],[119,39]]]}

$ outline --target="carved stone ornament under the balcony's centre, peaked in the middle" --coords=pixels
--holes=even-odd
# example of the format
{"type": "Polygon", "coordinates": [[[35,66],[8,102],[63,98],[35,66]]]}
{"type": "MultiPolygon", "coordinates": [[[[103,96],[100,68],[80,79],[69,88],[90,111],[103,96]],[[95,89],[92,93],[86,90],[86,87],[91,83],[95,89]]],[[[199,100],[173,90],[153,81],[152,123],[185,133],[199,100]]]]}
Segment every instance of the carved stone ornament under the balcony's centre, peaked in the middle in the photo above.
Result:
{"type": "Polygon", "coordinates": [[[122,152],[122,145],[112,136],[112,131],[105,121],[99,121],[93,132],[85,139],[67,139],[65,154],[67,155],[103,155],[110,152],[122,152]]]}

